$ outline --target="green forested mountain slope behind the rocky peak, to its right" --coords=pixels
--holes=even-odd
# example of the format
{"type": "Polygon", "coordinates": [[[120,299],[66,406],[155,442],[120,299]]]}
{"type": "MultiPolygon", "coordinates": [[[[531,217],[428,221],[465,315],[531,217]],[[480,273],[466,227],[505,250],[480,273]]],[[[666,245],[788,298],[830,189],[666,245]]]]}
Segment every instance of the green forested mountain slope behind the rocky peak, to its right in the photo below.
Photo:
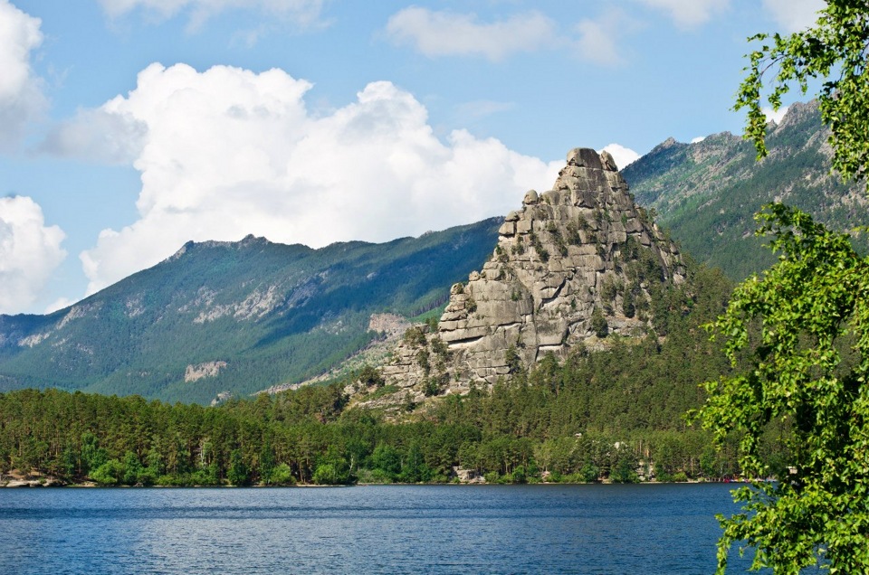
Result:
{"type": "MultiPolygon", "coordinates": [[[[766,203],[796,206],[838,231],[869,225],[864,184],[830,173],[828,136],[817,103],[797,103],[770,124],[769,156],[760,162],[750,141],[723,132],[692,144],[670,138],[622,174],[687,253],[741,279],[775,261],[753,236],[753,215],[766,203]]],[[[865,234],[855,247],[869,247],[865,234]]]]}

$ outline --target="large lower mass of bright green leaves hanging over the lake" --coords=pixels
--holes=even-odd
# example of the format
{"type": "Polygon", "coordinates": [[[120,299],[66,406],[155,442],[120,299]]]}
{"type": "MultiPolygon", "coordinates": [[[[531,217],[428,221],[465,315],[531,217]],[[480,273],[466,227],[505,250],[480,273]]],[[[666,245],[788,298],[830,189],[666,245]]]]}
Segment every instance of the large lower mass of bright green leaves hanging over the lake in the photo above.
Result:
{"type": "Polygon", "coordinates": [[[738,432],[740,466],[772,476],[736,493],[747,513],[720,517],[719,572],[733,542],[756,549],[754,567],[775,572],[826,564],[869,568],[869,260],[848,237],[773,204],[759,214],[778,264],[736,289],[713,325],[740,370],[706,384],[695,417],[722,441],[738,432]],[[788,426],[783,465],[763,457],[761,437],[788,426]]]}

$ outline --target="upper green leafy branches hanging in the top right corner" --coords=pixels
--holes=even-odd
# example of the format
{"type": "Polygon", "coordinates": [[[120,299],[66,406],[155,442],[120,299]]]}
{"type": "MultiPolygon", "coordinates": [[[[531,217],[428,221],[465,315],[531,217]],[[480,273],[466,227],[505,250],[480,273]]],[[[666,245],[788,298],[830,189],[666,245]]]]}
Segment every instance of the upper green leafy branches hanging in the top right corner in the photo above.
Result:
{"type": "Polygon", "coordinates": [[[869,160],[869,5],[865,0],[826,0],[814,27],[785,36],[762,33],[750,40],[761,46],[749,55],[748,75],[735,108],[748,108],[745,133],[754,140],[758,157],[767,154],[767,118],[761,108],[767,74],[774,74],[766,97],[774,110],[792,85],[805,94],[811,80],[833,78],[818,95],[821,118],[831,129],[833,168],[845,178],[863,179],[869,160]]]}

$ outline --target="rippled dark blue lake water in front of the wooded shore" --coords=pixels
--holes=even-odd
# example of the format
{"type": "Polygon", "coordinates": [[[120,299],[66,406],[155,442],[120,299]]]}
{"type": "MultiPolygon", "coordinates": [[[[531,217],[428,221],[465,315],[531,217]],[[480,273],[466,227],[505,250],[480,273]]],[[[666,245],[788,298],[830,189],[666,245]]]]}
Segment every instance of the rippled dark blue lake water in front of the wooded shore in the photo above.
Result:
{"type": "Polygon", "coordinates": [[[0,573],[711,573],[731,488],[0,489],[0,573]]]}

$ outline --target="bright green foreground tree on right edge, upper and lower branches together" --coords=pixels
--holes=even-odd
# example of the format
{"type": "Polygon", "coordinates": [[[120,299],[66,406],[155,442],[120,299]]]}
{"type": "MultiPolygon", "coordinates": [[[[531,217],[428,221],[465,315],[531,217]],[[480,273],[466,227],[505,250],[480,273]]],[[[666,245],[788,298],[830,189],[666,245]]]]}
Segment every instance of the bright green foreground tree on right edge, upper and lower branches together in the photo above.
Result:
{"type": "MultiPolygon", "coordinates": [[[[778,109],[792,84],[826,79],[818,94],[831,129],[833,168],[865,179],[869,158],[869,3],[828,0],[816,25],[788,36],[759,34],[736,108],[748,108],[746,137],[766,154],[761,92],[778,109]],[[837,76],[837,77],[836,77],[837,76]],[[831,77],[833,79],[831,80],[831,77]]],[[[869,259],[846,235],[804,212],[772,204],[758,216],[778,264],[736,289],[711,325],[734,368],[705,384],[693,417],[721,444],[740,439],[743,473],[755,482],[734,493],[743,513],[719,516],[718,572],[733,542],[755,549],[753,567],[796,573],[818,563],[833,573],[869,571],[869,259]],[[789,429],[778,472],[761,457],[770,425],[789,429]],[[784,471],[783,471],[784,470],[784,471]]],[[[714,336],[714,335],[713,335],[714,336]]]]}

